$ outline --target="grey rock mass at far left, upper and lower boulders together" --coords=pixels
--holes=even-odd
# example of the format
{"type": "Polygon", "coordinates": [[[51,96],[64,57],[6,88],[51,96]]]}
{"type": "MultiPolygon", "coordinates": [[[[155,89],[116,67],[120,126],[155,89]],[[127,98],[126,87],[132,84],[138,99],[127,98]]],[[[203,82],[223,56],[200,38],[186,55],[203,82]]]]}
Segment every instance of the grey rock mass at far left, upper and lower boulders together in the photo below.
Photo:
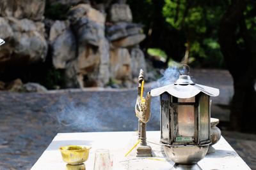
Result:
{"type": "Polygon", "coordinates": [[[0,37],[6,44],[0,48],[0,71],[10,65],[45,60],[44,0],[3,0],[0,4],[0,37]]]}

